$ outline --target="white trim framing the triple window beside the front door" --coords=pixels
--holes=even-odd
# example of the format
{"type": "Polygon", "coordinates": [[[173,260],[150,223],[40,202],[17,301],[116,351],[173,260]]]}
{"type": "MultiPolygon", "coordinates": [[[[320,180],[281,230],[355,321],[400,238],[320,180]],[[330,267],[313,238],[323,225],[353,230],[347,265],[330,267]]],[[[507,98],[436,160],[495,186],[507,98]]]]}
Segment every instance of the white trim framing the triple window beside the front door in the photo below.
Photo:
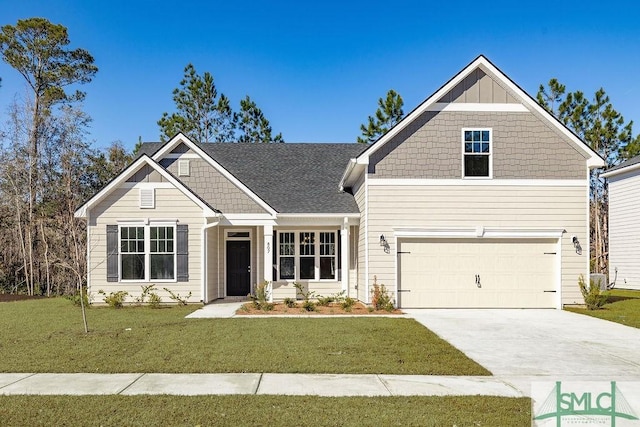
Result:
{"type": "MultiPolygon", "coordinates": [[[[304,282],[339,282],[341,280],[339,271],[340,269],[338,268],[339,264],[339,254],[340,254],[340,248],[338,247],[338,233],[340,233],[340,230],[322,230],[322,229],[281,229],[281,230],[277,230],[278,232],[278,239],[276,240],[276,243],[278,244],[277,248],[275,248],[275,253],[276,253],[276,269],[277,269],[277,278],[274,278],[274,280],[277,280],[279,282],[297,282],[297,281],[304,281],[304,282]],[[293,233],[294,235],[294,255],[293,255],[293,279],[283,279],[280,277],[280,235],[282,233],[293,233]],[[301,279],[300,278],[300,258],[305,258],[305,257],[309,257],[309,256],[305,256],[305,255],[300,255],[300,234],[302,233],[314,233],[314,255],[313,255],[313,259],[314,259],[314,264],[313,264],[313,268],[314,268],[314,278],[313,279],[301,279]],[[335,254],[333,255],[334,258],[334,263],[335,263],[335,271],[334,271],[334,278],[333,279],[321,279],[320,278],[320,258],[328,258],[328,255],[320,255],[320,234],[321,233],[331,233],[334,235],[334,245],[335,245],[335,254]]],[[[290,257],[290,255],[284,255],[285,257],[290,257]]]]}

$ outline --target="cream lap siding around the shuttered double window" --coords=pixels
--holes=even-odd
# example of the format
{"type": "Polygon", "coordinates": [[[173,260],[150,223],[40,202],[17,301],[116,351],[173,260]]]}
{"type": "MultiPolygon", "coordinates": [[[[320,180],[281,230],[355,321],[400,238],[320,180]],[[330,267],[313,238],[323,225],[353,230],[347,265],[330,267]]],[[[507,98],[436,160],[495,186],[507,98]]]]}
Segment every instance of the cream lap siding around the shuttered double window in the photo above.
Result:
{"type": "Polygon", "coordinates": [[[156,188],[155,208],[140,209],[138,188],[118,188],[105,197],[89,212],[89,292],[94,302],[102,303],[99,290],[110,292],[126,291],[129,293],[125,302],[132,302],[139,296],[142,286],[155,284],[158,295],[164,302],[171,302],[169,294],[162,288],[169,288],[184,297],[191,292],[189,302],[202,299],[201,280],[201,245],[203,216],[202,209],[176,188],[156,188]],[[157,219],[173,221],[189,226],[189,281],[188,282],[107,282],[107,225],[118,222],[141,219],[157,219]]]}

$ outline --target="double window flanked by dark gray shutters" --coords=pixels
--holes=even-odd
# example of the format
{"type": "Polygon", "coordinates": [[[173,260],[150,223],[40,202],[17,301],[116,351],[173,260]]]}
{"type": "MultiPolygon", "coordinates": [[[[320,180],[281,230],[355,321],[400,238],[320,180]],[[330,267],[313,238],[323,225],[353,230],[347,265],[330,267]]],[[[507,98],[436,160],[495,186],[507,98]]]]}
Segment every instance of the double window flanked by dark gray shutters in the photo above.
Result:
{"type": "Polygon", "coordinates": [[[122,280],[174,280],[175,226],[120,227],[122,280]]]}

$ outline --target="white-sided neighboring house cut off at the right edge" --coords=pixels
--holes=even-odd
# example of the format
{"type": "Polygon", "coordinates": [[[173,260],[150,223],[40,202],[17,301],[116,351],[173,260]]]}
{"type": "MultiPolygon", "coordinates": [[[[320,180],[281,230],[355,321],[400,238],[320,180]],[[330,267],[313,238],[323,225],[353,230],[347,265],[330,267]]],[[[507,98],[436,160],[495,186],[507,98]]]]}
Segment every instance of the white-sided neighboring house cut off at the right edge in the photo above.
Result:
{"type": "Polygon", "coordinates": [[[640,156],[600,176],[609,181],[609,281],[640,289],[640,156]]]}

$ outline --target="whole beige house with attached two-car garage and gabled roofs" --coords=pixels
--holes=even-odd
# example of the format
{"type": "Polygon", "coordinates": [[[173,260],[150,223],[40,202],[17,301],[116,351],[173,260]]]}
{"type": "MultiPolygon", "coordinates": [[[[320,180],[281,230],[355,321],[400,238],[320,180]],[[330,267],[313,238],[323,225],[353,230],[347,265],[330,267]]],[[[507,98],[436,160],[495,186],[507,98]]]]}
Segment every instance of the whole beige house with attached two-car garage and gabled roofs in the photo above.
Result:
{"type": "Polygon", "coordinates": [[[604,162],[483,56],[369,146],[178,134],[142,153],[76,212],[93,293],[298,282],[369,302],[377,281],[405,308],[582,303],[604,162]]]}

